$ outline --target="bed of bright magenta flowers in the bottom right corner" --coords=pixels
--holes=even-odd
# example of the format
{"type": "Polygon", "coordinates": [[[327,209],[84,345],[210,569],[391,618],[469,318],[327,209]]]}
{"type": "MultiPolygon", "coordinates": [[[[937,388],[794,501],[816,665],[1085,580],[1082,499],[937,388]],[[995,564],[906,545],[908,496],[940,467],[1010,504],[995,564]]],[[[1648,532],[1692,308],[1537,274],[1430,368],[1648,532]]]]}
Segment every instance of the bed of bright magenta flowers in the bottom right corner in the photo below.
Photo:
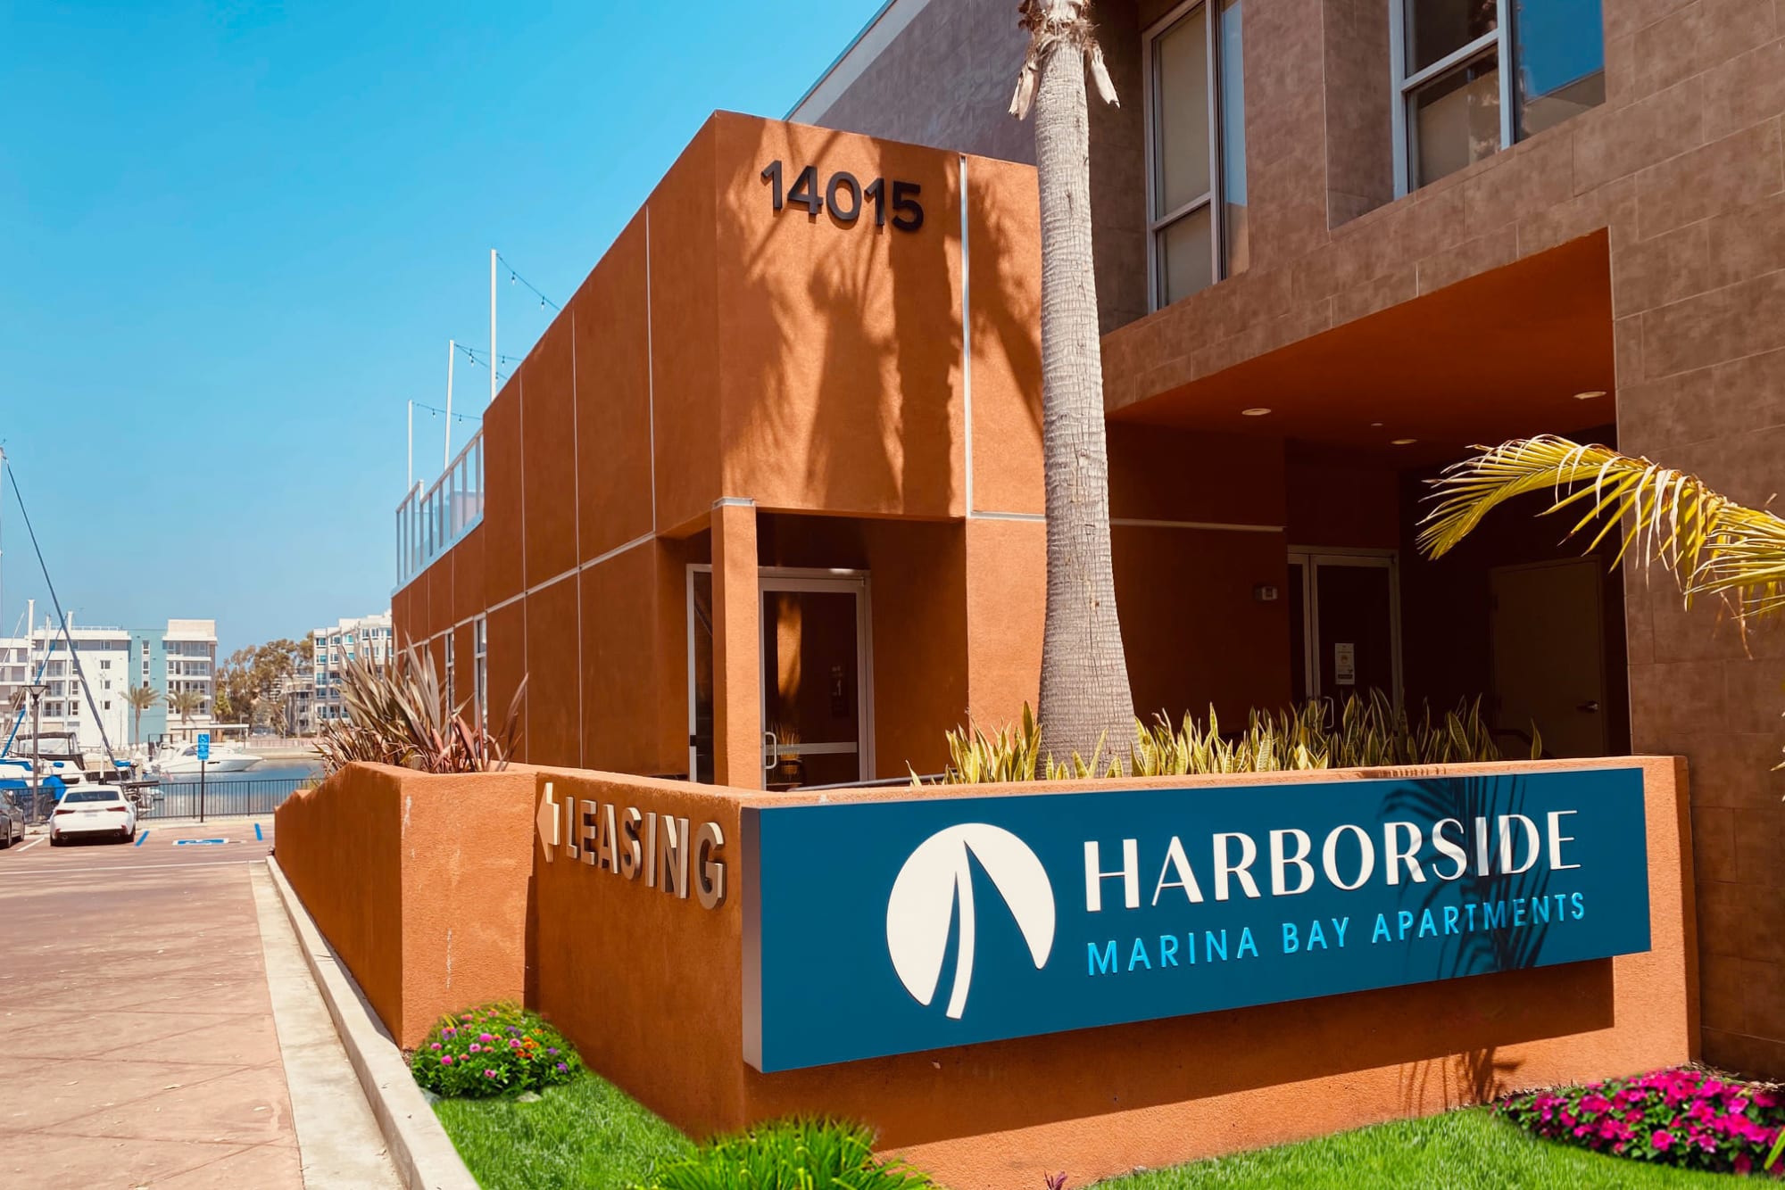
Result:
{"type": "MultiPolygon", "coordinates": [[[[1680,1067],[1507,1095],[1494,1111],[1562,1144],[1728,1174],[1765,1167],[1785,1126],[1778,1088],[1680,1067]]],[[[1771,1170],[1785,1174],[1785,1160],[1771,1170]]]]}

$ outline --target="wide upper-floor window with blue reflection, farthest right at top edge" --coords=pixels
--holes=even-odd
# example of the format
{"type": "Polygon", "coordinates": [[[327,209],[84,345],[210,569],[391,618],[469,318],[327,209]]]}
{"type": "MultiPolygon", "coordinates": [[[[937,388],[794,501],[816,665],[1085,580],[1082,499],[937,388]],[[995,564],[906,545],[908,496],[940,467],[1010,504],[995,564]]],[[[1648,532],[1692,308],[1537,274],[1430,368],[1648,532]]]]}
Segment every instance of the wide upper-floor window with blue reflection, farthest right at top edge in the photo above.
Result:
{"type": "Polygon", "coordinates": [[[1403,194],[1605,102],[1599,0],[1389,2],[1403,194]]]}

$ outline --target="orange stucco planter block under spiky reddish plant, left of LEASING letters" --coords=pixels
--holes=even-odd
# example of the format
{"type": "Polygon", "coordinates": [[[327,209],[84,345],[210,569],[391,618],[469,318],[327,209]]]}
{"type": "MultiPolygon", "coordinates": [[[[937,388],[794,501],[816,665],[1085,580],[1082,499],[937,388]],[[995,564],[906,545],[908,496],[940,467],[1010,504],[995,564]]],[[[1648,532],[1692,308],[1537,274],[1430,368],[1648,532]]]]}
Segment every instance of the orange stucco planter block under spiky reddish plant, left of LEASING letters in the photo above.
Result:
{"type": "Polygon", "coordinates": [[[534,774],[352,765],[275,815],[275,858],[402,1045],[527,992],[534,774]]]}

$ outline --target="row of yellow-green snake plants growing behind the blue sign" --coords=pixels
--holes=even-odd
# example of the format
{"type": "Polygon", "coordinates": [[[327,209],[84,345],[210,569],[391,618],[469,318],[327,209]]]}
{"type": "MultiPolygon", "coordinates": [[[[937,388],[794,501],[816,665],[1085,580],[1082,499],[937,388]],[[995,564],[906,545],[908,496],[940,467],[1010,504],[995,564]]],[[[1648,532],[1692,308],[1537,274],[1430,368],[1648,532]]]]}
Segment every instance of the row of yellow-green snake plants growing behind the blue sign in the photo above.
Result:
{"type": "MultiPolygon", "coordinates": [[[[1532,724],[1532,758],[1542,755],[1542,739],[1532,724]]],[[[1482,699],[1458,703],[1457,710],[1419,717],[1396,707],[1382,690],[1353,694],[1342,705],[1310,699],[1294,710],[1253,710],[1246,728],[1225,735],[1208,708],[1207,726],[1194,715],[1173,726],[1158,715],[1151,726],[1133,724],[1126,764],[1114,748],[1100,742],[1089,760],[1076,753],[1057,762],[1044,753],[1041,724],[1028,705],[1023,719],[987,735],[980,728],[948,733],[944,785],[984,781],[1080,780],[1089,776],[1187,776],[1200,773],[1282,773],[1291,769],[1360,769],[1382,765],[1464,764],[1499,760],[1494,731],[1482,717],[1482,699]]]]}

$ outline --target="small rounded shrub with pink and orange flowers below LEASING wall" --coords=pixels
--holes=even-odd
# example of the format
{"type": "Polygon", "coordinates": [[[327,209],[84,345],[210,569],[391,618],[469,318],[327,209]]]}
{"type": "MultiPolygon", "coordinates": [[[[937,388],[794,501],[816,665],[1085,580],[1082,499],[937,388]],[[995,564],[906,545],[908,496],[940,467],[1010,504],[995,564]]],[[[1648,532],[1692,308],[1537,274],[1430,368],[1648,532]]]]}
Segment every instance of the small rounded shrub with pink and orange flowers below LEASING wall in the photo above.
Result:
{"type": "Polygon", "coordinates": [[[582,1069],[575,1047],[519,1004],[480,1004],[441,1017],[409,1056],[416,1081],[436,1095],[482,1099],[566,1083],[582,1069]]]}

